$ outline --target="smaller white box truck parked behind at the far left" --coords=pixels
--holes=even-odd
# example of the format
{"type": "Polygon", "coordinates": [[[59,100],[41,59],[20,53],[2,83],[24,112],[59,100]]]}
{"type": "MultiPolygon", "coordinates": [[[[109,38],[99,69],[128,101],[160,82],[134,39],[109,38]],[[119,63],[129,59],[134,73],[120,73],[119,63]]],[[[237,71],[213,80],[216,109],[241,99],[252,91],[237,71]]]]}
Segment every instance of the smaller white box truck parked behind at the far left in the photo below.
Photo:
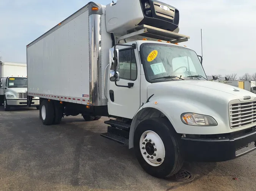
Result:
{"type": "MultiPolygon", "coordinates": [[[[10,107],[27,106],[27,64],[0,62],[0,105],[5,111],[10,107]]],[[[39,109],[39,97],[33,98],[32,106],[39,109]]]]}

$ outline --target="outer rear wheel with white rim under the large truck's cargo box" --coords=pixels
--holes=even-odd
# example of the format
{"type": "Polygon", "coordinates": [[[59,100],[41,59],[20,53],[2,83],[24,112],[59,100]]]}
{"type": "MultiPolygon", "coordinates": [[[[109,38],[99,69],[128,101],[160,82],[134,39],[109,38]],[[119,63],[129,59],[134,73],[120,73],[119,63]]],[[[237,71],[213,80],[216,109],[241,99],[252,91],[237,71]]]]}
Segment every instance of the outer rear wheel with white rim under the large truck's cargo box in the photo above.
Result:
{"type": "Polygon", "coordinates": [[[43,100],[40,107],[41,120],[44,125],[52,125],[54,120],[54,109],[52,102],[43,100]]]}

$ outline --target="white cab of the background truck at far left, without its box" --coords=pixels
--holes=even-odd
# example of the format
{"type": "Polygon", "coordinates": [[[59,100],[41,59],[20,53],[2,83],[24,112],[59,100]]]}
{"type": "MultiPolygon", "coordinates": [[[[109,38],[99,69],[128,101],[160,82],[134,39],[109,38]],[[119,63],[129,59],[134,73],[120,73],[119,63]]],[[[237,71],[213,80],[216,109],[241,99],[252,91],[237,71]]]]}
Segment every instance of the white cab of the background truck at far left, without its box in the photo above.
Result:
{"type": "MultiPolygon", "coordinates": [[[[5,111],[9,111],[10,107],[27,106],[27,86],[27,77],[11,76],[1,79],[5,111]]],[[[39,109],[38,97],[33,99],[32,105],[39,109]]]]}

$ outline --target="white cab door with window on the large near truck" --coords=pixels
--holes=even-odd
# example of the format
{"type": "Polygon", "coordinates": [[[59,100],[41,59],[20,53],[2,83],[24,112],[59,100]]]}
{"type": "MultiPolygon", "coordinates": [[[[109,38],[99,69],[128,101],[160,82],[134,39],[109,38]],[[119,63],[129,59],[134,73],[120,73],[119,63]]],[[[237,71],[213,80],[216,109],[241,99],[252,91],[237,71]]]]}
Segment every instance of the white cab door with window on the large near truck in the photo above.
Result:
{"type": "MultiPolygon", "coordinates": [[[[138,49],[127,46],[118,48],[118,78],[115,84],[114,65],[110,65],[108,79],[108,113],[132,119],[140,108],[140,61],[138,49]],[[120,87],[121,86],[130,86],[120,87]]],[[[111,64],[111,63],[110,63],[111,64]]]]}

